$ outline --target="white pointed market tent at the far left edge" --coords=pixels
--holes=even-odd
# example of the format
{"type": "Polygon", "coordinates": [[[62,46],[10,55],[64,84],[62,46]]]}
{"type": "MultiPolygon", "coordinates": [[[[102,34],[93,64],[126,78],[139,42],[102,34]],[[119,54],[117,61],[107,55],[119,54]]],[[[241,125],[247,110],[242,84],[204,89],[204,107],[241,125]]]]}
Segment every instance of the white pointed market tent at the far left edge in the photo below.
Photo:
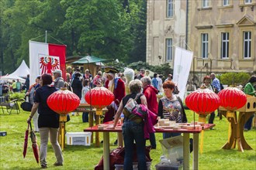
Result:
{"type": "Polygon", "coordinates": [[[29,67],[26,65],[25,61],[22,60],[22,63],[19,65],[16,71],[6,76],[0,76],[0,80],[8,81],[8,80],[19,79],[21,83],[25,83],[25,79],[28,74],[29,74],[29,67]]]}

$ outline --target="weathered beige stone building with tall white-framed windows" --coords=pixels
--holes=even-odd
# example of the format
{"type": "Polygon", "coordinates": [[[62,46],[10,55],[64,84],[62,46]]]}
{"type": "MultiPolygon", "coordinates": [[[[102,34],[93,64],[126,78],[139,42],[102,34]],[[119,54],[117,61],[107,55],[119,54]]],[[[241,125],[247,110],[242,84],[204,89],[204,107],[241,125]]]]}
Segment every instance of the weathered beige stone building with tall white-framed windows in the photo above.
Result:
{"type": "Polygon", "coordinates": [[[147,1],[147,63],[173,68],[175,46],[193,51],[198,76],[255,72],[256,0],[147,1]]]}

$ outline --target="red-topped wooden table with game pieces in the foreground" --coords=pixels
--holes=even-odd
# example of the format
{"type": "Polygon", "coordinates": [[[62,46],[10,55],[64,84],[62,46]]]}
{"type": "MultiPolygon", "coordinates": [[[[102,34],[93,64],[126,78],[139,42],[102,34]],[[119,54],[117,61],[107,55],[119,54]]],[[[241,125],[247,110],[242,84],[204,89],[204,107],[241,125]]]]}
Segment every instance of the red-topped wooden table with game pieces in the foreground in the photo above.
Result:
{"type": "MultiPolygon", "coordinates": [[[[104,124],[106,127],[104,129],[98,128],[98,125],[95,125],[91,128],[85,128],[84,131],[97,131],[103,132],[103,166],[104,169],[109,169],[109,133],[110,132],[122,132],[122,128],[109,129],[108,126],[112,126],[113,122],[109,121],[104,124]]],[[[203,129],[213,128],[215,124],[205,124],[203,129]]],[[[183,159],[184,166],[183,169],[189,169],[189,134],[193,134],[193,169],[199,169],[199,133],[202,131],[202,128],[199,129],[180,129],[180,130],[172,130],[172,129],[156,129],[156,133],[183,133],[183,159]]]]}

